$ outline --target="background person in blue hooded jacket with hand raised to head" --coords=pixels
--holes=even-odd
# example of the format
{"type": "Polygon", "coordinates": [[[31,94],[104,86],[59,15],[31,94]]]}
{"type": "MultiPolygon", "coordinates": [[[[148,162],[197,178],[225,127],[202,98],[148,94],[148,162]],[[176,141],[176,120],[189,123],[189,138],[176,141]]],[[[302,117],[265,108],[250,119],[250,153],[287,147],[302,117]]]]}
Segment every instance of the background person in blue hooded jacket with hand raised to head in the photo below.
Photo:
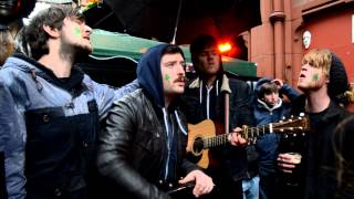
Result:
{"type": "MultiPolygon", "coordinates": [[[[266,125],[282,119],[282,117],[289,114],[291,102],[298,96],[299,93],[290,85],[284,84],[282,80],[260,78],[256,84],[253,101],[256,125],[266,125]]],[[[258,163],[259,192],[262,199],[273,198],[274,191],[277,191],[274,185],[277,177],[274,163],[278,156],[279,140],[279,134],[266,134],[257,140],[254,146],[248,146],[248,148],[256,147],[254,150],[248,151],[258,154],[258,159],[253,159],[251,163],[249,160],[249,165],[251,166],[252,161],[258,163]]],[[[257,178],[258,176],[254,176],[253,180],[257,180],[257,178]]],[[[253,188],[253,190],[258,189],[253,188]]]]}

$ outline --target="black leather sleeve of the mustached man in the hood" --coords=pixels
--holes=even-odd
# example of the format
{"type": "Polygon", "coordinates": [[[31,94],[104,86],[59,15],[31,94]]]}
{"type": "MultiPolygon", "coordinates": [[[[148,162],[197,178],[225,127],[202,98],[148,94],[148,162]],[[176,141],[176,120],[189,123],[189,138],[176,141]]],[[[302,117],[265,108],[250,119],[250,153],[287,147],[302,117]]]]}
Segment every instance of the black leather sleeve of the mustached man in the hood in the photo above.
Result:
{"type": "Polygon", "coordinates": [[[106,127],[100,135],[97,166],[100,172],[111,179],[132,198],[169,198],[139,175],[128,161],[129,148],[136,124],[134,107],[124,101],[114,103],[106,127]]]}

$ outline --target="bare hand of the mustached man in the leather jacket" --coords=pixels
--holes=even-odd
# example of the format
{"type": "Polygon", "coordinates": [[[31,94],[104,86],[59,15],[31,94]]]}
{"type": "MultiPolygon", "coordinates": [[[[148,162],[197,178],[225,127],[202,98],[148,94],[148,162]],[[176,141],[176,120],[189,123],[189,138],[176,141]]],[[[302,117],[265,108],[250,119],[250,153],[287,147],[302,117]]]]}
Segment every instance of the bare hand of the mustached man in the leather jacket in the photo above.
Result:
{"type": "Polygon", "coordinates": [[[179,184],[195,182],[192,193],[195,197],[209,193],[214,188],[212,179],[204,174],[201,170],[190,171],[184,179],[179,180],[179,184]]]}

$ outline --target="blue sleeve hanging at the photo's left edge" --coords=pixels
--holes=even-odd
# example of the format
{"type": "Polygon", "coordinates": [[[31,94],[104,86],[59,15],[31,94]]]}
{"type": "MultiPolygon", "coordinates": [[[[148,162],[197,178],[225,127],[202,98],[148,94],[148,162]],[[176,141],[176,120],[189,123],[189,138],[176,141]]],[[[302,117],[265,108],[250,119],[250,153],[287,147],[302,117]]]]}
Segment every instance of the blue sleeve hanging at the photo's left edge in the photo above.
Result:
{"type": "Polygon", "coordinates": [[[17,109],[11,92],[2,83],[0,109],[0,150],[4,155],[7,192],[9,199],[22,199],[25,197],[24,121],[17,109]]]}

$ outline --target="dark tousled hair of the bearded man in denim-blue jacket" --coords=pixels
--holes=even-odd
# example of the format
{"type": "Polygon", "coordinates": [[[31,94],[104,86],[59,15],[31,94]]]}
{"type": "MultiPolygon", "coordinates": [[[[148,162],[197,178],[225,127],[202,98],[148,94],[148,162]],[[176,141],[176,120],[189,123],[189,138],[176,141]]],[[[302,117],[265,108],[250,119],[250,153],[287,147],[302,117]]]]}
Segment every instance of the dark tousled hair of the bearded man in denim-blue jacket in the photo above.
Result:
{"type": "Polygon", "coordinates": [[[23,28],[22,42],[29,45],[33,59],[39,60],[49,53],[46,42],[50,35],[44,31],[43,27],[49,25],[52,29],[61,30],[66,18],[84,21],[84,15],[79,8],[73,8],[69,4],[58,4],[40,11],[23,28]]]}

